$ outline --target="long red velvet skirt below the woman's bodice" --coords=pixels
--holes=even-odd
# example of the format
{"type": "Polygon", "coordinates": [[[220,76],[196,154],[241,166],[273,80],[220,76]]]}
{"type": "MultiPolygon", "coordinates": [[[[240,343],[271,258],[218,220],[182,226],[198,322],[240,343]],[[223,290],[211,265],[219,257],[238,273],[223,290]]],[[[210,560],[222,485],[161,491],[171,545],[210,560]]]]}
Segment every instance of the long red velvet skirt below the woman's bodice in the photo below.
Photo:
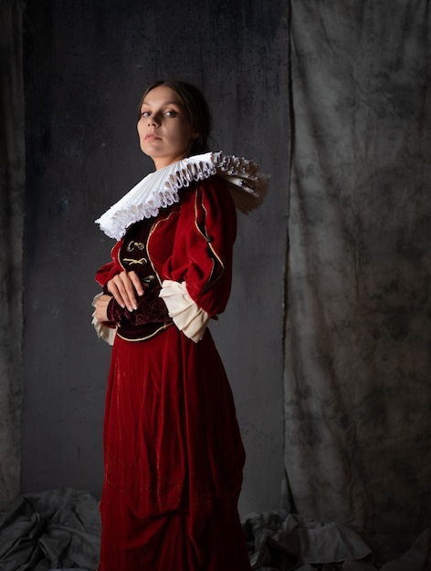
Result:
{"type": "Polygon", "coordinates": [[[250,570],[244,448],[209,331],[116,338],[103,443],[100,571],[250,570]]]}

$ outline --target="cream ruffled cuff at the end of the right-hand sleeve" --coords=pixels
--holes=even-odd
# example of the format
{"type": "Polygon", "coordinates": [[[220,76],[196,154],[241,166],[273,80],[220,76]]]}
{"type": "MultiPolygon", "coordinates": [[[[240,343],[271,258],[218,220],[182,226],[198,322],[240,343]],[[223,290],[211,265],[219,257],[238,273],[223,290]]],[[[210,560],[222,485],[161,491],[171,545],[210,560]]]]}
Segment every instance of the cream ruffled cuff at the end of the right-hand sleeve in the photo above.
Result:
{"type": "Polygon", "coordinates": [[[204,337],[209,315],[189,296],[185,282],[164,280],[160,296],[168,308],[169,317],[186,337],[197,343],[204,337]]]}

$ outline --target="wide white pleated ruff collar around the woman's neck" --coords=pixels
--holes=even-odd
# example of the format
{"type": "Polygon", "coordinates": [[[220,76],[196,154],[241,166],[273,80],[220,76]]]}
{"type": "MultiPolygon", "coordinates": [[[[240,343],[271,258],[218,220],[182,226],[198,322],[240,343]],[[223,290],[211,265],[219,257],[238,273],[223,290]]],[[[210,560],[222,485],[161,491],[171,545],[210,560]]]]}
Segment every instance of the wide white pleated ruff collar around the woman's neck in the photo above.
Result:
{"type": "Polygon", "coordinates": [[[110,238],[121,240],[132,223],[157,216],[161,208],[178,202],[178,192],[182,188],[215,174],[225,179],[237,209],[242,213],[257,208],[268,191],[268,177],[259,172],[256,162],[234,155],[225,156],[222,152],[206,152],[151,172],[96,223],[110,238]]]}

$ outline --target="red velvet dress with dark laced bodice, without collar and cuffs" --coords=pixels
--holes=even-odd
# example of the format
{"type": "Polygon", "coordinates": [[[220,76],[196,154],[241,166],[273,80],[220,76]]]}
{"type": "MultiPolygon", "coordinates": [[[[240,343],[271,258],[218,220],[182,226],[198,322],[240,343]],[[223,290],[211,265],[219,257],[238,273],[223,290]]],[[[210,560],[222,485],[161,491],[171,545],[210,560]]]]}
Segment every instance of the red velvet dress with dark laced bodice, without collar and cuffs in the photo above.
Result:
{"type": "Polygon", "coordinates": [[[237,514],[245,453],[232,392],[209,330],[197,343],[167,315],[163,280],[185,282],[211,317],[230,293],[236,211],[213,176],[133,224],[100,268],[146,292],[117,324],[104,420],[100,571],[249,571],[237,514]]]}

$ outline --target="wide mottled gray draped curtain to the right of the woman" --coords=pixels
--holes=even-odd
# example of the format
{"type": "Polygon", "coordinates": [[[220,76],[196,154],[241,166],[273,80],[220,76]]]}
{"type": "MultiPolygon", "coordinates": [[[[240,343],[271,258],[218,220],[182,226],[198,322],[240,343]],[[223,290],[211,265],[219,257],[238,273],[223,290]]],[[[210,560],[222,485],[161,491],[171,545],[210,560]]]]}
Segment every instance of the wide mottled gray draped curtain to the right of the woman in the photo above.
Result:
{"type": "Polygon", "coordinates": [[[405,551],[431,515],[431,6],[290,6],[286,501],[405,551]]]}

